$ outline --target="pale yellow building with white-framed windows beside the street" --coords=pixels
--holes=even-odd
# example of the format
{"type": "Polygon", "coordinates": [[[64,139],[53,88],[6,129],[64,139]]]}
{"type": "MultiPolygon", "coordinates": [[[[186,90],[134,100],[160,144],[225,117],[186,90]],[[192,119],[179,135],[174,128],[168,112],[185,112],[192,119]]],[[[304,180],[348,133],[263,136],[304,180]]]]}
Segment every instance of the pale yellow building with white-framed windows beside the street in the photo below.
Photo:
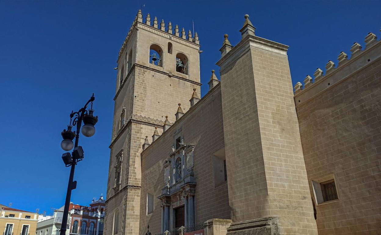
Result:
{"type": "Polygon", "coordinates": [[[38,213],[0,206],[0,229],[3,235],[34,235],[38,213]]]}

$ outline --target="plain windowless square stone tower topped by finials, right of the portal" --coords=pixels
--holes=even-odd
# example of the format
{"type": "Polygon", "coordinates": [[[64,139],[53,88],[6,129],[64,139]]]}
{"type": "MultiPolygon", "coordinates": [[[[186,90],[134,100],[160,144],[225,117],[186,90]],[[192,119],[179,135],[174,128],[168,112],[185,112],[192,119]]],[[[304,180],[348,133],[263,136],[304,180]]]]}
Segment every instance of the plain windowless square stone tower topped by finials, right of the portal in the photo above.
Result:
{"type": "Polygon", "coordinates": [[[225,35],[221,94],[233,224],[227,235],[317,235],[288,46],[255,35],[245,15],[242,40],[225,35]]]}

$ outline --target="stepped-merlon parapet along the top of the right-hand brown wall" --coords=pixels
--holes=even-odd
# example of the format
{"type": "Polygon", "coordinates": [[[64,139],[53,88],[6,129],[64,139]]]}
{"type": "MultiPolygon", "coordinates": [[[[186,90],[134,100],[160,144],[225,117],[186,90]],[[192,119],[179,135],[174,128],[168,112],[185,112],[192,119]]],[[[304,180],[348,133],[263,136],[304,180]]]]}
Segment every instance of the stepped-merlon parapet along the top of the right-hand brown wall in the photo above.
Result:
{"type": "Polygon", "coordinates": [[[365,37],[364,50],[362,50],[362,46],[359,43],[355,42],[350,51],[351,58],[349,59],[348,55],[344,51],[341,51],[337,58],[337,67],[335,67],[335,62],[331,60],[328,61],[325,65],[325,75],[323,74],[322,69],[317,68],[314,72],[314,78],[307,75],[307,77],[304,78],[304,84],[301,82],[296,83],[294,86],[296,106],[314,97],[323,90],[338,84],[340,81],[354,74],[364,66],[381,58],[381,42],[380,40],[377,40],[375,34],[369,33],[365,37]]]}

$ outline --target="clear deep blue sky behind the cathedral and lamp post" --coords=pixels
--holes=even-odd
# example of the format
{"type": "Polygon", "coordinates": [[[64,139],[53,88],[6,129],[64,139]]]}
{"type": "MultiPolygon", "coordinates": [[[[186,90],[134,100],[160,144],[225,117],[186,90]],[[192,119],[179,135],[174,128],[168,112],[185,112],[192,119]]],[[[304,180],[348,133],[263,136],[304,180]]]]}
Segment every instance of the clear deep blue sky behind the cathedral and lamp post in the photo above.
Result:
{"type": "MultiPolygon", "coordinates": [[[[223,35],[239,42],[244,14],[256,35],[289,45],[293,84],[337,64],[368,32],[380,37],[381,1],[0,1],[0,204],[40,212],[64,204],[69,168],[61,131],[70,111],[95,93],[99,121],[80,137],[85,159],[72,201],[106,194],[118,51],[141,4],[145,18],[192,29],[200,38],[202,95],[221,57],[223,35]]],[[[218,76],[219,77],[219,76],[218,76]]]]}

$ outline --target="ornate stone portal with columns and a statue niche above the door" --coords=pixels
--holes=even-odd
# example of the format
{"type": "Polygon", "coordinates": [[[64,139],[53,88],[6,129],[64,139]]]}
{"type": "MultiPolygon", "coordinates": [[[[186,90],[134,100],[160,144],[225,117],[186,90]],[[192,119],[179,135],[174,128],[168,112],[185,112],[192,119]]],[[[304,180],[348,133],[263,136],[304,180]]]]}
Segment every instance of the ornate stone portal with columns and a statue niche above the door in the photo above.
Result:
{"type": "Polygon", "coordinates": [[[170,157],[163,164],[164,187],[162,195],[158,197],[162,201],[162,232],[176,227],[176,222],[179,222],[179,214],[176,220],[175,211],[182,206],[184,206],[183,225],[186,227],[195,223],[196,181],[193,173],[193,152],[194,145],[184,144],[182,140],[180,147],[171,148],[170,157]]]}

